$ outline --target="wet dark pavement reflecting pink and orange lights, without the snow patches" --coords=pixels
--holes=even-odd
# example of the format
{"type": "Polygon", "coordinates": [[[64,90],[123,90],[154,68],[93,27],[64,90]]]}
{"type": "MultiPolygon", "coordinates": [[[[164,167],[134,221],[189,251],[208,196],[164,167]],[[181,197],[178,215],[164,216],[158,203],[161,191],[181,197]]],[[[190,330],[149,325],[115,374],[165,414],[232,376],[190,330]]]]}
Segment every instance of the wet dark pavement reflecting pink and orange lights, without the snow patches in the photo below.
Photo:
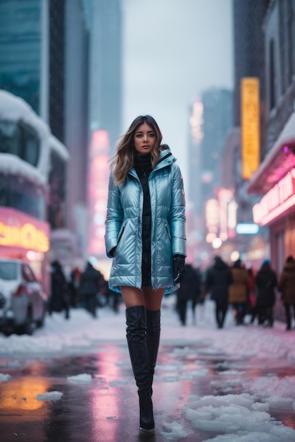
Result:
{"type": "MultiPolygon", "coordinates": [[[[0,440],[4,442],[206,441],[218,431],[196,429],[184,407],[192,395],[247,393],[245,385],[260,376],[294,376],[294,364],[278,359],[210,355],[210,342],[172,345],[163,342],[154,380],[154,434],[141,431],[137,389],[126,342],[100,342],[88,354],[64,357],[0,358],[0,440]],[[5,369],[5,370],[4,370],[5,369]],[[181,373],[180,373],[181,371],[181,373]],[[78,381],[69,376],[91,375],[78,381]],[[243,378],[243,382],[241,382],[243,378]],[[61,392],[59,400],[37,395],[61,392]],[[187,437],[169,438],[178,422],[187,437]]],[[[272,412],[295,429],[295,410],[272,412]]],[[[234,441],[233,441],[234,442],[234,441]]]]}

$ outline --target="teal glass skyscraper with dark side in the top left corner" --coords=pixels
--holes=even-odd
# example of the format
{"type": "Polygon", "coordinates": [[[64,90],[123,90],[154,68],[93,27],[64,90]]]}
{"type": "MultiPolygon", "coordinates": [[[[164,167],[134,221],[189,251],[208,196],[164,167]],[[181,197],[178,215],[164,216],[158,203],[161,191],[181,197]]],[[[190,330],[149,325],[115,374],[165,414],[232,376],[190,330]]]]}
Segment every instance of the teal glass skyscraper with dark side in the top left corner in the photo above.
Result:
{"type": "Polygon", "coordinates": [[[62,142],[64,2],[0,2],[0,88],[28,102],[62,142]]]}

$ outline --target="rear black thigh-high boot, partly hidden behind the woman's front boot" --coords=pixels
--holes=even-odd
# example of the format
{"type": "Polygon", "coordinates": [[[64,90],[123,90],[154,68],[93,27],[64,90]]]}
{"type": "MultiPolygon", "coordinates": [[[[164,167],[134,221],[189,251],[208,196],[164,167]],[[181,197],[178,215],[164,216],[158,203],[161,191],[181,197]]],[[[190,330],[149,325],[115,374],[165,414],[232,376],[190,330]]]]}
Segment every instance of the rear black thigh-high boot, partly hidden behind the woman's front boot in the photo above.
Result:
{"type": "MultiPolygon", "coordinates": [[[[153,385],[161,333],[161,310],[146,310],[146,343],[149,354],[149,377],[153,385]]],[[[153,393],[153,391],[151,391],[153,393]]]]}

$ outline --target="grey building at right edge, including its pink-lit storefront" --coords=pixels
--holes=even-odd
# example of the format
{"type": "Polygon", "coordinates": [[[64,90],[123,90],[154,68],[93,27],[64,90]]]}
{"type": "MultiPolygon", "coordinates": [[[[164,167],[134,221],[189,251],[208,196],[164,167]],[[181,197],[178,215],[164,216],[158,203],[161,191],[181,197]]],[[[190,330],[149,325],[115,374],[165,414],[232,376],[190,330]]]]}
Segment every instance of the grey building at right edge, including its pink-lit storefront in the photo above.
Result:
{"type": "Polygon", "coordinates": [[[270,231],[277,273],[295,256],[295,4],[270,1],[263,22],[265,46],[265,142],[249,183],[258,194],[253,217],[270,231]],[[262,198],[261,198],[262,196],[262,198]]]}

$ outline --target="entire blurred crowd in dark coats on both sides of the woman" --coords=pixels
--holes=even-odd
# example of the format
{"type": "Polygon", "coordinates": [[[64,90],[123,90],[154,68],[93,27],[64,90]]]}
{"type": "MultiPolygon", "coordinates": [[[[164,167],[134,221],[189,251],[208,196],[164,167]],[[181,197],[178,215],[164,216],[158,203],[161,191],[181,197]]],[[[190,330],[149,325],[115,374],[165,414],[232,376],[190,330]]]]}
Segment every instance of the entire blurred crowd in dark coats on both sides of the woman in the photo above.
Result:
{"type": "MultiPolygon", "coordinates": [[[[190,307],[192,324],[197,323],[197,306],[202,306],[206,298],[215,303],[215,318],[218,328],[224,327],[229,308],[236,325],[253,324],[272,327],[274,323],[275,291],[279,292],[284,306],[286,330],[292,328],[295,320],[295,258],[288,256],[279,278],[271,267],[270,261],[262,262],[257,273],[253,268],[246,268],[238,259],[232,265],[221,256],[215,256],[214,262],[205,272],[185,263],[185,277],[177,290],[175,310],[180,324],[187,325],[187,311],[190,307]]],[[[122,299],[119,294],[108,288],[108,281],[103,274],[87,261],[84,269],[78,267],[66,276],[59,261],[51,264],[51,296],[48,312],[64,312],[70,318],[70,309],[83,307],[93,318],[97,317],[98,307],[106,304],[115,312],[122,299]]]]}

